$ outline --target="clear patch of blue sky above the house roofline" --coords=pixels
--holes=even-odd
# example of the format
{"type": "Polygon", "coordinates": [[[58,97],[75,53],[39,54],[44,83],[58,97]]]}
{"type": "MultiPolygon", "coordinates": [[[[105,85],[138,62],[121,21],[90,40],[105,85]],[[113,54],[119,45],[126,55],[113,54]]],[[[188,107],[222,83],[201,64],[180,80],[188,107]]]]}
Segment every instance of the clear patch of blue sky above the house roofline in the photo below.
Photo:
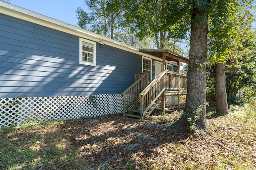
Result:
{"type": "Polygon", "coordinates": [[[84,0],[9,0],[10,4],[78,26],[76,10],[87,10],[84,0]]]}

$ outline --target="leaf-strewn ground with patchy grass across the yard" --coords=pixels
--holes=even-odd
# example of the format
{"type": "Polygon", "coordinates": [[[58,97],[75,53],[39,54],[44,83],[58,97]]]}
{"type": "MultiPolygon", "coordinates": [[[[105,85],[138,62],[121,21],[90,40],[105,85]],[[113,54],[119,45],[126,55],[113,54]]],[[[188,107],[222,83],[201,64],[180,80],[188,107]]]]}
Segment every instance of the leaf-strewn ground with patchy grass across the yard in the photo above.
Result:
{"type": "Polygon", "coordinates": [[[208,137],[143,128],[174,123],[175,109],[144,121],[112,114],[2,131],[0,169],[256,169],[256,113],[209,111],[208,137]]]}

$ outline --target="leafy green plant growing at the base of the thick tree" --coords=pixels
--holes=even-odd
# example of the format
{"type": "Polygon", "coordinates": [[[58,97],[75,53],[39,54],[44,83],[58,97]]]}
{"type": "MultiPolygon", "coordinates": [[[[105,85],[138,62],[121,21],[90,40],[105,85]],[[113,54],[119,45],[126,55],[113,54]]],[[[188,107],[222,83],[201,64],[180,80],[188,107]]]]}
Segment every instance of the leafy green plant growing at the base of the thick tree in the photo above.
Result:
{"type": "Polygon", "coordinates": [[[187,109],[183,116],[188,124],[188,129],[194,133],[199,133],[196,127],[196,121],[200,118],[201,111],[208,105],[208,102],[204,103],[203,105],[198,106],[196,110],[187,109]]]}

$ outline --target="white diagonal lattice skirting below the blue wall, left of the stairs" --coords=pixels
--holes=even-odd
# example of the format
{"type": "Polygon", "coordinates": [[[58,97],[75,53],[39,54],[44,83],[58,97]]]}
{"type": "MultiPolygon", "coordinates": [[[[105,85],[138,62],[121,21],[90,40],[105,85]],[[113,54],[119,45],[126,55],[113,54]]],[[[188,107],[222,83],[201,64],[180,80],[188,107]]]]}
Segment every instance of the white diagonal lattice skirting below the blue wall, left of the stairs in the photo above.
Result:
{"type": "Polygon", "coordinates": [[[29,121],[77,119],[110,113],[122,113],[122,95],[95,95],[96,107],[89,96],[54,96],[36,98],[0,98],[0,127],[29,121]]]}

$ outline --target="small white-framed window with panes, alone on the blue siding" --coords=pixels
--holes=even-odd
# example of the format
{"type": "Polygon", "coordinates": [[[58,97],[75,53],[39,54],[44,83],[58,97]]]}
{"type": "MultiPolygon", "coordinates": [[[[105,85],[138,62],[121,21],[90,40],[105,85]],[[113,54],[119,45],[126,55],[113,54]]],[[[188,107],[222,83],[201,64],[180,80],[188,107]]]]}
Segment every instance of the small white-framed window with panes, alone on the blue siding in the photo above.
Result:
{"type": "Polygon", "coordinates": [[[96,66],[96,42],[79,39],[79,64],[96,66]]]}

